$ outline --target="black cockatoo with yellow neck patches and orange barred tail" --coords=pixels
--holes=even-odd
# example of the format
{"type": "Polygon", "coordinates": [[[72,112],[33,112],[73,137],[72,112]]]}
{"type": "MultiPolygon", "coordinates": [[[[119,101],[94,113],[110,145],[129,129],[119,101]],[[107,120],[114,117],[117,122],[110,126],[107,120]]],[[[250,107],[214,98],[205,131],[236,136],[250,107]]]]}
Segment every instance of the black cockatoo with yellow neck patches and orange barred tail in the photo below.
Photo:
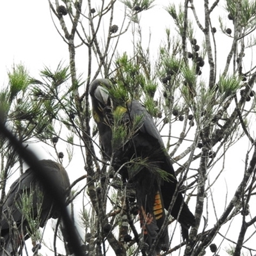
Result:
{"type": "MultiPolygon", "coordinates": [[[[115,170],[134,184],[144,239],[151,246],[163,225],[164,208],[168,209],[172,201],[177,179],[152,116],[137,100],[114,99],[113,90],[108,79],[96,79],[90,84],[93,118],[104,156],[113,157],[115,170]],[[118,137],[116,131],[120,131],[123,138],[118,137]]],[[[195,225],[195,217],[181,193],[177,195],[171,214],[181,224],[183,238],[188,239],[188,229],[195,225]]],[[[166,227],[156,253],[167,250],[168,244],[166,227]]]]}

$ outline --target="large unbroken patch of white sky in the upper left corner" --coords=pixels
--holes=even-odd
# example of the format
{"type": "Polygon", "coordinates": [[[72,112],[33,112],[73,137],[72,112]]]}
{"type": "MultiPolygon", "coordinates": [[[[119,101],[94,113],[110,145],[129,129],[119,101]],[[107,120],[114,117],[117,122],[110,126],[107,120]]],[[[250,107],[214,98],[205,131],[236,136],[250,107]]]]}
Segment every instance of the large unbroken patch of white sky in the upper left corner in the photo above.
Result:
{"type": "Polygon", "coordinates": [[[13,63],[24,63],[37,74],[44,65],[55,67],[67,59],[66,45],[52,24],[48,1],[10,0],[2,4],[1,84],[13,63]]]}

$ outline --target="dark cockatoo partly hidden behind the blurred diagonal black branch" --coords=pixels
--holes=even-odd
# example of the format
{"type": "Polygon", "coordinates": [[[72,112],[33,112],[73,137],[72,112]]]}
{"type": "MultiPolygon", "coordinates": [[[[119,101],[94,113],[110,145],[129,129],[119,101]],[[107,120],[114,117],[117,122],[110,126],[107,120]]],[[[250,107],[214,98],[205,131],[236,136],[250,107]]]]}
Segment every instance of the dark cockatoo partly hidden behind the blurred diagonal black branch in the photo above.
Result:
{"type": "MultiPolygon", "coordinates": [[[[51,160],[41,160],[39,163],[42,164],[47,175],[52,180],[56,180],[56,190],[58,189],[66,199],[69,195],[67,189],[70,186],[66,170],[61,164],[51,160]]],[[[4,241],[0,255],[14,255],[13,253],[16,253],[29,238],[31,226],[27,216],[30,223],[33,220],[39,221],[40,227],[44,227],[47,220],[59,218],[60,215],[60,209],[53,204],[52,196],[45,193],[45,188],[36,178],[35,172],[29,168],[13,182],[4,200],[1,220],[1,237],[4,241]],[[24,200],[28,203],[24,204],[24,200]],[[24,209],[25,205],[27,210],[24,209]]]]}

